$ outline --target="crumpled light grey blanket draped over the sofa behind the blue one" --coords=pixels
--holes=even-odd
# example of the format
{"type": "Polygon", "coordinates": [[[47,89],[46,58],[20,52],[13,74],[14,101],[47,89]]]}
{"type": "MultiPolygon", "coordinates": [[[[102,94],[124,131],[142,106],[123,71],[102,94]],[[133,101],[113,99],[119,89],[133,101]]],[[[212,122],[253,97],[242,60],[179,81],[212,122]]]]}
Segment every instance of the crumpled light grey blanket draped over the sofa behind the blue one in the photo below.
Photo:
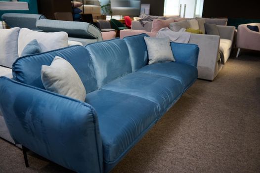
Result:
{"type": "Polygon", "coordinates": [[[174,32],[169,28],[162,28],[158,31],[156,37],[169,37],[170,40],[175,43],[188,43],[190,40],[191,33],[185,32],[185,30],[185,28],[182,28],[178,32],[174,32]]]}

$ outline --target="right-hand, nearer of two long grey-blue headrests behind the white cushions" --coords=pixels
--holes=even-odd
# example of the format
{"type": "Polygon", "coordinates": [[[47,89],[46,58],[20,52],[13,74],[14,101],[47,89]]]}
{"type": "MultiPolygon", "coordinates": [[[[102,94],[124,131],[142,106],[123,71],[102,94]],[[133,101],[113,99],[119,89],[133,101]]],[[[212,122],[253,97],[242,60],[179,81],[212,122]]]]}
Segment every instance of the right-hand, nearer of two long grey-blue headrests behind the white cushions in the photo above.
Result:
{"type": "Polygon", "coordinates": [[[43,32],[64,31],[68,33],[69,37],[98,39],[98,41],[102,41],[101,31],[94,25],[86,22],[42,19],[36,22],[36,26],[43,30],[43,32]]]}

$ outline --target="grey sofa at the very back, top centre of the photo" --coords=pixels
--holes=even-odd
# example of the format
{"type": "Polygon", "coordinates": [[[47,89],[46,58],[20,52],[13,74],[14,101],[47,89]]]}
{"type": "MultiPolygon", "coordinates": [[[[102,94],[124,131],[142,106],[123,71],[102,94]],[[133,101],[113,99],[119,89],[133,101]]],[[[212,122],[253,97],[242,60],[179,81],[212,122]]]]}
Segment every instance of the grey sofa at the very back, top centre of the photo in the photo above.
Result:
{"type": "Polygon", "coordinates": [[[140,8],[140,0],[111,0],[113,15],[139,16],[140,8]]]}

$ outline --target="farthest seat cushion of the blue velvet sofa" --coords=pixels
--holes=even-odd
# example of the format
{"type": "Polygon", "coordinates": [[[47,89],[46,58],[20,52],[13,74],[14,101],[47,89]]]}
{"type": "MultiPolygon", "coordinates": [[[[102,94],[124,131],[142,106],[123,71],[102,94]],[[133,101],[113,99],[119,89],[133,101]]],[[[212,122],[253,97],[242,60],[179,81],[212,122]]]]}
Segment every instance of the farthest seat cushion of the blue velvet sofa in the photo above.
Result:
{"type": "Polygon", "coordinates": [[[176,79],[181,82],[183,91],[190,87],[198,78],[198,70],[196,67],[177,62],[155,63],[144,66],[137,72],[176,79]]]}

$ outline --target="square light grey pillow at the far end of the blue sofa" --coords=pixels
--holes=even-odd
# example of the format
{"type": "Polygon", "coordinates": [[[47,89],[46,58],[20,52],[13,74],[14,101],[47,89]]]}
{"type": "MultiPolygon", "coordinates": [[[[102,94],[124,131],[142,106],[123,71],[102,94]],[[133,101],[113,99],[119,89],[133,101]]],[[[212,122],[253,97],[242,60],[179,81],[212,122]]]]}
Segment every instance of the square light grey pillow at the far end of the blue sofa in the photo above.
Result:
{"type": "Polygon", "coordinates": [[[149,64],[162,61],[175,61],[169,37],[144,37],[144,40],[148,50],[149,64]]]}

